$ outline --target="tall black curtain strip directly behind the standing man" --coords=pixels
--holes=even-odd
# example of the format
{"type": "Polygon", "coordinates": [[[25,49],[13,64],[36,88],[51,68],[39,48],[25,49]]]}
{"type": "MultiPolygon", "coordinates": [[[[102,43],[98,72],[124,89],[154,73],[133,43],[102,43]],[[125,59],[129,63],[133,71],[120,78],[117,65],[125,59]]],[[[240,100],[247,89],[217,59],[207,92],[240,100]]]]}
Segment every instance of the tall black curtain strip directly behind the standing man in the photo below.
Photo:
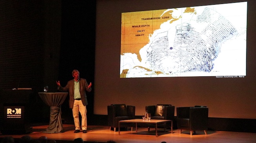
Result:
{"type": "MultiPolygon", "coordinates": [[[[87,115],[93,115],[94,105],[94,50],[95,50],[95,7],[96,1],[62,0],[62,37],[60,48],[59,78],[65,86],[73,79],[72,71],[77,69],[80,77],[93,83],[93,90],[87,92],[87,115]]],[[[65,122],[73,122],[68,98],[62,104],[65,122]]],[[[64,122],[64,123],[65,123],[64,122]]]]}

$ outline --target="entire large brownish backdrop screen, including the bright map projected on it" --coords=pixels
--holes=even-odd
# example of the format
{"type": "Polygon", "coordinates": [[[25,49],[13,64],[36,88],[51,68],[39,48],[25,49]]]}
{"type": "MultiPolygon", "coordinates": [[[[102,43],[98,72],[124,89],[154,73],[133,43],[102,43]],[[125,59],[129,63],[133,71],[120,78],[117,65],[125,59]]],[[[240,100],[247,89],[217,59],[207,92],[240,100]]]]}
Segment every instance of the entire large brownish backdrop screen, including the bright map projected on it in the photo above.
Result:
{"type": "Polygon", "coordinates": [[[94,114],[203,105],[256,118],[255,0],[97,0],[94,114]]]}

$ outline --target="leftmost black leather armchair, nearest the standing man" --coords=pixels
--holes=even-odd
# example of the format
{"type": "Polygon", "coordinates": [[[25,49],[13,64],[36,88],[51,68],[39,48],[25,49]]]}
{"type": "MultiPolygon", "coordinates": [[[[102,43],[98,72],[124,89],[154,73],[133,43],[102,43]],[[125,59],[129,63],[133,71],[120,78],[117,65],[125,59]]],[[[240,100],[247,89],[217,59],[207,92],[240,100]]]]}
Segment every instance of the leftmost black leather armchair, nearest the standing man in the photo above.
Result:
{"type": "MultiPolygon", "coordinates": [[[[111,104],[107,106],[107,122],[109,130],[118,127],[118,122],[121,120],[130,120],[135,118],[135,106],[129,106],[125,104],[111,104]]],[[[131,127],[133,129],[133,123],[122,123],[120,127],[131,127]]]]}

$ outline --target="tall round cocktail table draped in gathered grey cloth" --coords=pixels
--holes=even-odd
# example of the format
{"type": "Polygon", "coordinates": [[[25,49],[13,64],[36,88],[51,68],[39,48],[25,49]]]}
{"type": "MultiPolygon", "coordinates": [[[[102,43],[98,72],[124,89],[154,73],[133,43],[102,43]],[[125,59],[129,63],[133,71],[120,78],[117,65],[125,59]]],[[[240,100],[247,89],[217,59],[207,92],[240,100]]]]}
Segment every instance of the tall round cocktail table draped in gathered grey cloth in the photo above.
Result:
{"type": "Polygon", "coordinates": [[[45,104],[50,106],[50,123],[44,133],[60,133],[63,132],[61,120],[61,105],[67,97],[67,92],[39,92],[38,93],[45,104]]]}

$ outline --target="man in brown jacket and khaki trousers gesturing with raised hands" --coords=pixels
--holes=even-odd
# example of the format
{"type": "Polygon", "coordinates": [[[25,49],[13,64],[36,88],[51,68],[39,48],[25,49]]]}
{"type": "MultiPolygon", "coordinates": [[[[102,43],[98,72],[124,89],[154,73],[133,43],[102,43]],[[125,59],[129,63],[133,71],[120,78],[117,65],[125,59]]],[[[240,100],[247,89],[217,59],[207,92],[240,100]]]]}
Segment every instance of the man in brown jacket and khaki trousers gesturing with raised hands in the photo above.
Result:
{"type": "Polygon", "coordinates": [[[80,132],[79,112],[82,116],[82,130],[87,132],[87,96],[85,91],[91,92],[92,83],[88,85],[86,79],[79,78],[79,71],[73,70],[72,76],[74,79],[67,82],[65,87],[60,85],[60,81],[56,81],[60,91],[69,91],[69,108],[72,108],[74,125],[76,130],[74,133],[80,132]]]}

